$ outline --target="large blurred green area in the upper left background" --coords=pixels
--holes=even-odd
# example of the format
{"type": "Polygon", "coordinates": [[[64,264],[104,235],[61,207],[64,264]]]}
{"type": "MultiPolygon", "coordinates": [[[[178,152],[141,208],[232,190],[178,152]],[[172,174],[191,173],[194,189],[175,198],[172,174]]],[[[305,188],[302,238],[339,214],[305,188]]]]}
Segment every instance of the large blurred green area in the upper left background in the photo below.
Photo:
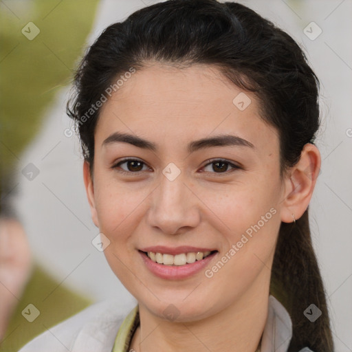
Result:
{"type": "Polygon", "coordinates": [[[3,177],[39,131],[45,107],[71,82],[97,5],[98,0],[0,2],[0,195],[3,177]],[[33,34],[29,22],[40,30],[32,40],[21,32],[33,34]]]}

